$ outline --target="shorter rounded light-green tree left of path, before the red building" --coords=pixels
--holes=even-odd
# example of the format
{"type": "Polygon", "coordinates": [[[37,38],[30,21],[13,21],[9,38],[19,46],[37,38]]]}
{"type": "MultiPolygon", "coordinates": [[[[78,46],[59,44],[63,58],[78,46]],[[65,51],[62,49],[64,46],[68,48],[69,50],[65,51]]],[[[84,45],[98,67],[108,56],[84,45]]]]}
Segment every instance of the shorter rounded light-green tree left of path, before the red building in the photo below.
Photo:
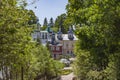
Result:
{"type": "Polygon", "coordinates": [[[62,64],[50,57],[51,54],[46,47],[37,44],[34,53],[37,59],[36,65],[33,65],[34,71],[36,71],[35,80],[48,80],[60,75],[60,71],[63,68],[62,64]]]}

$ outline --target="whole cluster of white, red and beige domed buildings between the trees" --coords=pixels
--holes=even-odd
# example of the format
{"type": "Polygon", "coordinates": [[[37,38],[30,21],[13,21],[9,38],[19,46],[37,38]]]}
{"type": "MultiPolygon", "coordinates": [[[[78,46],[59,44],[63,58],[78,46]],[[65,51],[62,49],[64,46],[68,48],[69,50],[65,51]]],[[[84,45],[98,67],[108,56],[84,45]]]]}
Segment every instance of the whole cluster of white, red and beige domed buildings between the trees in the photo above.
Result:
{"type": "Polygon", "coordinates": [[[54,59],[60,56],[74,57],[74,45],[78,40],[72,29],[67,34],[62,34],[61,29],[54,33],[48,26],[45,31],[36,30],[32,34],[33,40],[40,39],[43,45],[48,43],[51,55],[54,59]]]}

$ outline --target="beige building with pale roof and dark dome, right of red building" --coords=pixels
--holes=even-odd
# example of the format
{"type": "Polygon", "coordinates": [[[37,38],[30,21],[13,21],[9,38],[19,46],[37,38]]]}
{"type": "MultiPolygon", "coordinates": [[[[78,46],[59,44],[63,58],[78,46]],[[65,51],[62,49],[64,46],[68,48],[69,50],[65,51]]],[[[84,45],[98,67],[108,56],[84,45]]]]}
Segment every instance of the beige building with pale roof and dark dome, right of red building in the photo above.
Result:
{"type": "Polygon", "coordinates": [[[64,56],[74,57],[74,45],[77,40],[78,38],[73,34],[71,28],[68,34],[62,34],[62,40],[58,39],[58,41],[63,45],[62,54],[64,56]]]}

